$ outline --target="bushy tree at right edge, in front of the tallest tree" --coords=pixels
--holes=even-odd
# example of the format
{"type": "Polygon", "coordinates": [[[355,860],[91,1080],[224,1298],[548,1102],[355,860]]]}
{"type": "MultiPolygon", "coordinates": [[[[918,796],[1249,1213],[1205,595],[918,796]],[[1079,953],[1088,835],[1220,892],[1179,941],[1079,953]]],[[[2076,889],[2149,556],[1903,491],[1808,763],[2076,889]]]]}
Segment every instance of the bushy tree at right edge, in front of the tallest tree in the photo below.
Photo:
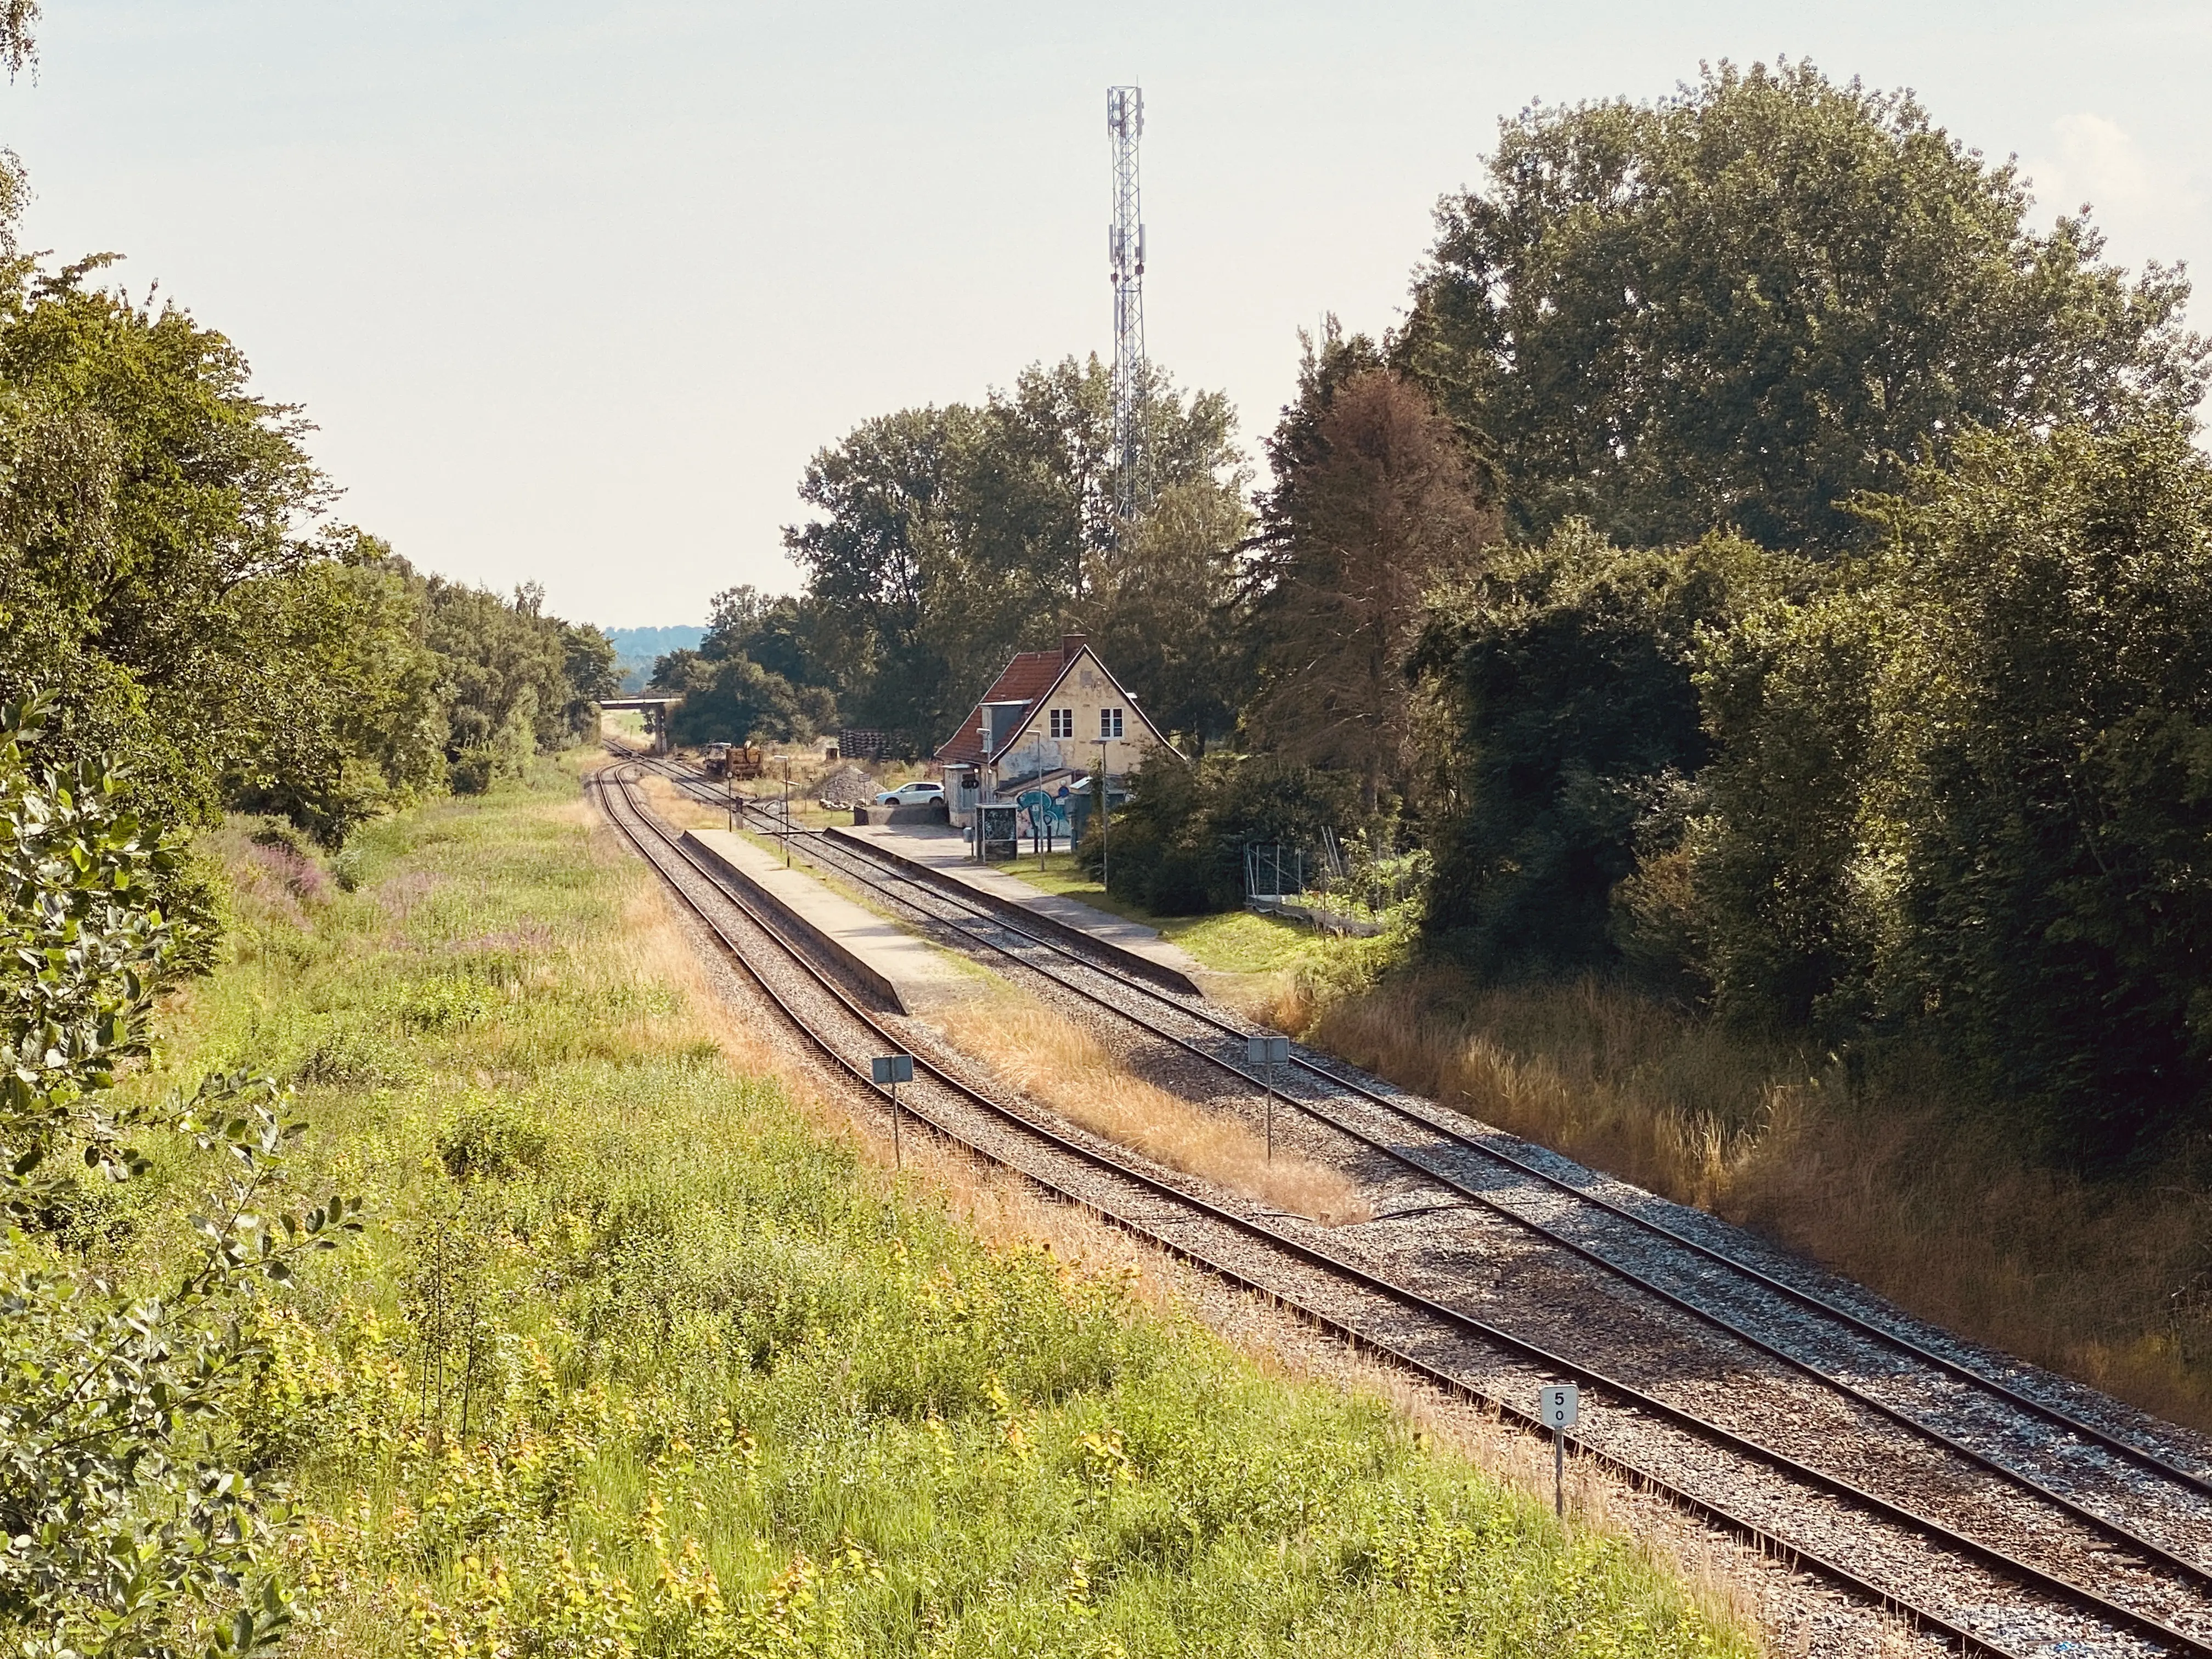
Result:
{"type": "Polygon", "coordinates": [[[1714,641],[1694,883],[1723,1002],[1933,1033],[2046,1146],[2212,1119],[2212,465],[1982,434],[1714,641]]]}

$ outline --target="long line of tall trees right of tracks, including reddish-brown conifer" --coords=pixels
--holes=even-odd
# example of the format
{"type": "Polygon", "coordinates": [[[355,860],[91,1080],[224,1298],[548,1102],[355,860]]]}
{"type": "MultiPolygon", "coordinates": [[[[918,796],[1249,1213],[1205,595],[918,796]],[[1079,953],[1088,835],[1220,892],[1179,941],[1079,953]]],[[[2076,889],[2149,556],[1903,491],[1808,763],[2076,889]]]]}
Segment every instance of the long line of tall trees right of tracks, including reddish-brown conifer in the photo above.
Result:
{"type": "Polygon", "coordinates": [[[1035,367],[823,449],[803,593],[717,650],[927,750],[1082,626],[1217,750],[1139,776],[1130,896],[1329,823],[1433,860],[1422,947],[1484,975],[1909,1033],[2055,1152],[2166,1144],[2212,1119],[2208,345],[2031,208],[1803,62],[1533,106],[1405,323],[1305,341],[1263,491],[1161,385],[1117,524],[1104,369],[1035,367]]]}

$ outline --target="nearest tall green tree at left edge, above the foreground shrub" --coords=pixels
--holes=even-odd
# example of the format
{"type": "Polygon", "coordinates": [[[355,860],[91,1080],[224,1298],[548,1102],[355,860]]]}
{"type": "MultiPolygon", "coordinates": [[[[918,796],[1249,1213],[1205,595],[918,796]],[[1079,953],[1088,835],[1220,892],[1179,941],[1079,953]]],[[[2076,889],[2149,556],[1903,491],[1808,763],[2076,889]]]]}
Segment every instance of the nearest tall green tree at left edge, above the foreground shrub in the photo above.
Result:
{"type": "Polygon", "coordinates": [[[261,732],[250,595],[321,557],[299,526],[330,484],[228,338],[88,288],[104,263],[18,259],[0,283],[0,697],[51,690],[60,743],[126,757],[153,816],[206,821],[261,732]]]}

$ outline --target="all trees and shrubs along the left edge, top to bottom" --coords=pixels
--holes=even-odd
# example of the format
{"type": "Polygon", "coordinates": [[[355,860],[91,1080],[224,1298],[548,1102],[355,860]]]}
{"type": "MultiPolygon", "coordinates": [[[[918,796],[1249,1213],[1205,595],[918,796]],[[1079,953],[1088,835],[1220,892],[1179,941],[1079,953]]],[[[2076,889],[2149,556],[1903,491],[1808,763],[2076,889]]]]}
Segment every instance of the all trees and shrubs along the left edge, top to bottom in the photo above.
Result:
{"type": "MultiPolygon", "coordinates": [[[[0,7],[11,71],[35,18],[0,7]]],[[[117,1091],[219,942],[190,838],[487,790],[595,730],[613,646],[330,524],[303,414],[113,259],[24,252],[24,192],[0,153],[0,1646],[276,1652],[268,1296],[361,1199],[299,1188],[270,1077],[117,1091]],[[115,1197],[157,1161],[201,1192],[173,1259],[115,1197]]]]}

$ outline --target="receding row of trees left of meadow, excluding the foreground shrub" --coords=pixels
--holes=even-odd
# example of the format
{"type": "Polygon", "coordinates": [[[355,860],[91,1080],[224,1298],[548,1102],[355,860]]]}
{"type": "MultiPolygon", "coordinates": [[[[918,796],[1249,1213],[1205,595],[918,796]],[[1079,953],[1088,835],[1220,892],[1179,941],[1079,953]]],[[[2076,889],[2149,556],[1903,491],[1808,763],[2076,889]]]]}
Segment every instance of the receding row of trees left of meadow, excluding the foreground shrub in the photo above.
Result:
{"type": "Polygon", "coordinates": [[[108,757],[148,821],[281,814],[338,845],[593,730],[597,628],[416,571],[330,522],[301,409],[223,334],[18,246],[0,166],[0,701],[108,757]]]}

